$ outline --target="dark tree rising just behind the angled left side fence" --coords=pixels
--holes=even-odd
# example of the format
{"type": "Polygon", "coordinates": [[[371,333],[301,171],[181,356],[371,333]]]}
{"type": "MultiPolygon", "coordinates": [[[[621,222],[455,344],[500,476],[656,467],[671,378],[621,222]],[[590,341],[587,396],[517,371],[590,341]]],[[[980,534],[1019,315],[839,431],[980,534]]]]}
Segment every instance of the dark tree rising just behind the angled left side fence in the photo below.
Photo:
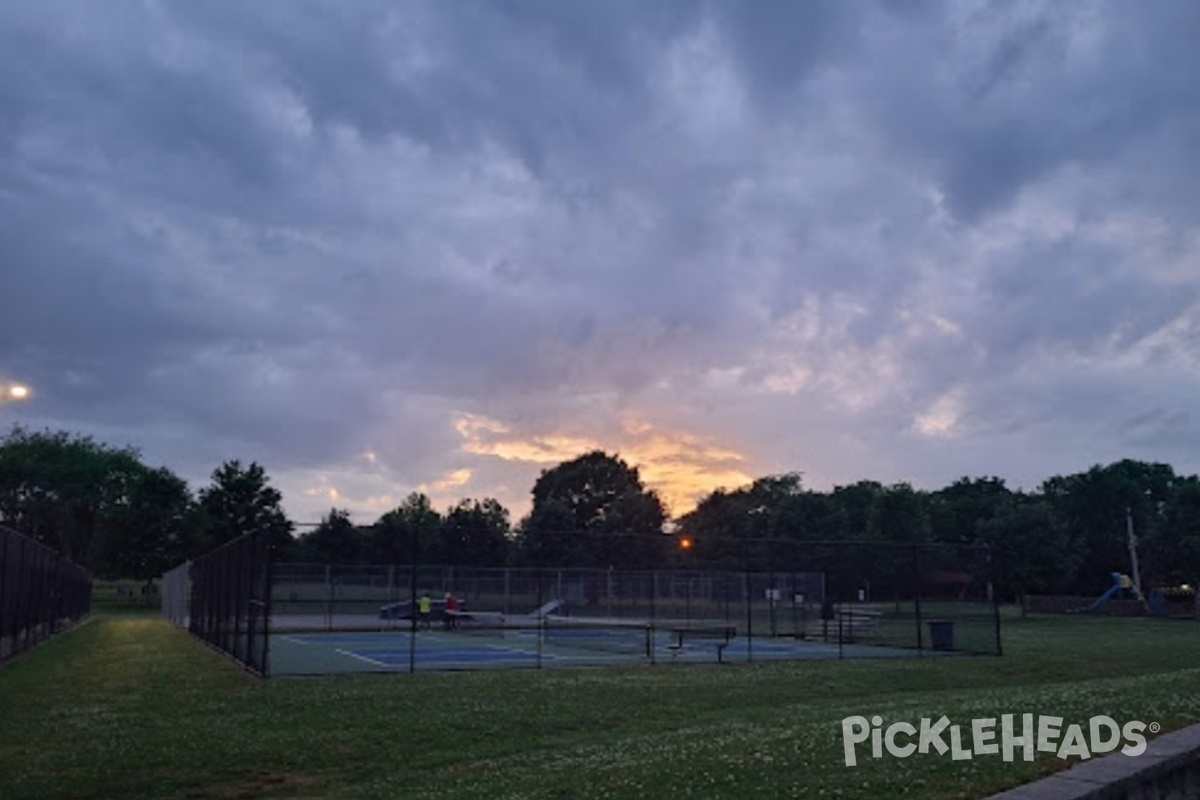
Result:
{"type": "Polygon", "coordinates": [[[283,513],[283,495],[268,486],[257,463],[242,468],[229,461],[212,471],[212,485],[200,489],[199,511],[208,546],[218,547],[246,534],[266,534],[276,558],[287,558],[292,523],[283,513]]]}

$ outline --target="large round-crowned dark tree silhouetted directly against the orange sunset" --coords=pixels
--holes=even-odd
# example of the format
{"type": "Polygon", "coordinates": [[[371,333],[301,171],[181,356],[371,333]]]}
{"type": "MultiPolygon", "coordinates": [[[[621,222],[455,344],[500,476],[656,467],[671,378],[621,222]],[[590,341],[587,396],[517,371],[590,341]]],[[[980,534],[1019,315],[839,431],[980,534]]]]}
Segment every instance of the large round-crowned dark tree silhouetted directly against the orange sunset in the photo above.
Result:
{"type": "Polygon", "coordinates": [[[556,566],[655,566],[670,543],[664,522],[637,468],[598,450],[541,473],[518,549],[556,566]]]}

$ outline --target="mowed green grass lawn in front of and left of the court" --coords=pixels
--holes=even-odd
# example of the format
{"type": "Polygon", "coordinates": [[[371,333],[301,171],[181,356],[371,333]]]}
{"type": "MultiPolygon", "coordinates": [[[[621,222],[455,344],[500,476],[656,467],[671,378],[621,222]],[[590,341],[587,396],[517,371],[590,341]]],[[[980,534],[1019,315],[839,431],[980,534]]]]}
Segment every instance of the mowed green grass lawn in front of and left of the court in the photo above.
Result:
{"type": "Polygon", "coordinates": [[[1200,624],[1031,618],[1004,644],[263,681],[155,616],[103,613],[0,668],[0,798],[979,798],[1067,763],[860,746],[847,768],[841,720],[1200,721],[1200,624]]]}

